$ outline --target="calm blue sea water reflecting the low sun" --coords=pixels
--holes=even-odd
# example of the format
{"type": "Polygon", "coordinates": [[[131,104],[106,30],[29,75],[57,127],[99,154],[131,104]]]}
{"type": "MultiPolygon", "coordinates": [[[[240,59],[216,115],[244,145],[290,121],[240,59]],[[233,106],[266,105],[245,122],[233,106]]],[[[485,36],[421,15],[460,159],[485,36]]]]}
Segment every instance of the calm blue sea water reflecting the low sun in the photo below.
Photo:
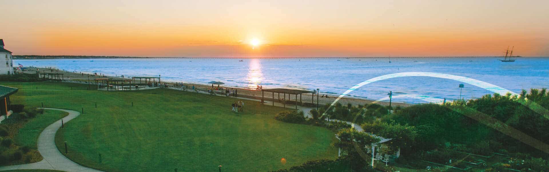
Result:
{"type": "MultiPolygon", "coordinates": [[[[231,87],[319,88],[341,94],[367,79],[399,72],[436,72],[478,79],[519,93],[522,89],[549,87],[549,58],[519,58],[500,62],[498,58],[362,58],[362,59],[54,59],[14,60],[17,64],[57,67],[66,71],[97,72],[107,75],[158,76],[163,80],[207,84],[220,81],[231,87]],[[339,60],[339,61],[338,61],[339,60]],[[391,61],[391,62],[389,62],[391,61]]],[[[432,77],[400,77],[368,84],[349,96],[377,100],[394,95],[420,94],[457,99],[461,82],[432,77]]],[[[466,99],[490,94],[465,84],[466,99]]],[[[418,103],[419,100],[395,99],[418,103]]]]}

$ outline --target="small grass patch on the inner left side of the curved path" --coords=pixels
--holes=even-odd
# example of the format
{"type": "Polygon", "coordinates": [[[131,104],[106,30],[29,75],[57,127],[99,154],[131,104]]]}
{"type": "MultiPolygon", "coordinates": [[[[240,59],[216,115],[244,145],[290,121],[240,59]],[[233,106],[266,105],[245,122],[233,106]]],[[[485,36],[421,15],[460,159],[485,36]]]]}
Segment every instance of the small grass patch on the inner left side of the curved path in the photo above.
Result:
{"type": "Polygon", "coordinates": [[[29,122],[23,125],[23,128],[19,129],[19,133],[14,139],[15,144],[29,146],[36,150],[36,142],[42,130],[68,114],[63,111],[44,110],[44,114],[38,114],[35,118],[31,118],[29,122]]]}

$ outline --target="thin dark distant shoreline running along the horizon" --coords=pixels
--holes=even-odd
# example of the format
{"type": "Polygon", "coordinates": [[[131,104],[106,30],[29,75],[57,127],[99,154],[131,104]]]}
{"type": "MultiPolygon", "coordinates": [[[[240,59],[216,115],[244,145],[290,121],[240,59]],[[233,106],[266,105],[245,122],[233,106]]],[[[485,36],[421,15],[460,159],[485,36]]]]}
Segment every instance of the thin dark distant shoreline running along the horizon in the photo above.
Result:
{"type": "MultiPolygon", "coordinates": [[[[503,58],[503,56],[395,56],[395,57],[318,57],[318,58],[186,58],[186,57],[134,57],[134,56],[80,56],[80,55],[13,55],[14,59],[366,59],[366,58],[503,58]]],[[[523,58],[523,56],[512,56],[523,58]]],[[[541,58],[529,57],[529,58],[541,58]]]]}

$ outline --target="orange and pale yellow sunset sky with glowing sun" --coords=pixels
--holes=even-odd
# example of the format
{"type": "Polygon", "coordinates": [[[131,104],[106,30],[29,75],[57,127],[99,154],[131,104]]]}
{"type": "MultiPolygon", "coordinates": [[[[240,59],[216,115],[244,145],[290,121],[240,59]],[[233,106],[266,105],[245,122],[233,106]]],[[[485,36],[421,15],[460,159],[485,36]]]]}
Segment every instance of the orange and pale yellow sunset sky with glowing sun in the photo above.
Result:
{"type": "Polygon", "coordinates": [[[549,56],[549,1],[3,1],[14,55],[549,56]],[[255,45],[253,45],[255,44],[255,45]]]}

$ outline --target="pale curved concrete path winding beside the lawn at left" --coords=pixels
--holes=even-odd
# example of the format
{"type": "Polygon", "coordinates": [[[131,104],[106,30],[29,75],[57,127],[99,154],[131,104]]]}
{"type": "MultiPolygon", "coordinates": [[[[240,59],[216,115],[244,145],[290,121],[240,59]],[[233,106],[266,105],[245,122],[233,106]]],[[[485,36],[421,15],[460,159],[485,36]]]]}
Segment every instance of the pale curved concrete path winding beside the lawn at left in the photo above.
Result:
{"type": "MultiPolygon", "coordinates": [[[[64,110],[59,108],[43,108],[47,110],[58,110],[69,112],[69,115],[63,118],[64,122],[68,122],[71,119],[80,115],[78,111],[64,110]]],[[[61,170],[61,171],[100,171],[88,167],[84,167],[80,164],[72,162],[69,158],[65,157],[55,146],[55,133],[61,128],[61,119],[59,121],[49,125],[38,136],[38,152],[42,154],[44,158],[40,162],[32,164],[10,165],[0,167],[1,170],[17,170],[17,169],[49,169],[49,170],[61,170]]]]}

